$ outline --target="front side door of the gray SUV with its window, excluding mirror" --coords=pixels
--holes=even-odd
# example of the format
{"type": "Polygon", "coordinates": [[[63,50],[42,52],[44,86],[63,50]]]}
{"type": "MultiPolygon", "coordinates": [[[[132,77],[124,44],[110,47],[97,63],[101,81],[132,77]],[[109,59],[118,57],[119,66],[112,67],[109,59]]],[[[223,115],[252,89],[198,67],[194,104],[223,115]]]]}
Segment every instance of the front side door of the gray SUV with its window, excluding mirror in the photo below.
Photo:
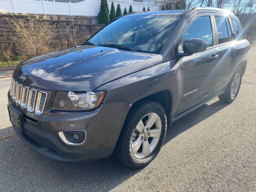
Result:
{"type": "MultiPolygon", "coordinates": [[[[197,14],[193,18],[183,33],[182,42],[188,38],[204,39],[208,45],[207,50],[194,53],[190,56],[181,58],[181,94],[177,114],[194,107],[200,102],[211,97],[212,90],[215,89],[215,70],[218,60],[218,50],[214,47],[214,22],[210,14],[197,14]]],[[[179,46],[179,50],[183,47],[179,46]]]]}

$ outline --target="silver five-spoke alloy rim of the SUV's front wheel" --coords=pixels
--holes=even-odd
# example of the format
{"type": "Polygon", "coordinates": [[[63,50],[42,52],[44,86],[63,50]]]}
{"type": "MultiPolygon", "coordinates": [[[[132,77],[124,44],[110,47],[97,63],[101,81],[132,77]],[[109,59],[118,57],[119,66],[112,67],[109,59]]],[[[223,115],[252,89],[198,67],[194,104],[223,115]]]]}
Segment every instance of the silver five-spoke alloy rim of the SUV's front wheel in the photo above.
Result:
{"type": "Polygon", "coordinates": [[[149,113],[140,119],[132,134],[132,153],[137,158],[145,158],[157,146],[162,130],[162,122],[156,113],[149,113]]]}

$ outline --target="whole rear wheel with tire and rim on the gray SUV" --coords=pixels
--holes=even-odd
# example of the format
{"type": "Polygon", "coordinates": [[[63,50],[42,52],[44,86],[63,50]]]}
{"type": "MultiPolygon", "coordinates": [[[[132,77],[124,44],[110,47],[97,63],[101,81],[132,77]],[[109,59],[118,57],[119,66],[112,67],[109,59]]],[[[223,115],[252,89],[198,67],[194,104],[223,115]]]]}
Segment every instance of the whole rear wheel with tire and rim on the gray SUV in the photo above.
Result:
{"type": "Polygon", "coordinates": [[[220,101],[231,103],[236,99],[242,83],[242,76],[242,69],[238,67],[230,79],[225,93],[219,95],[220,101]]]}

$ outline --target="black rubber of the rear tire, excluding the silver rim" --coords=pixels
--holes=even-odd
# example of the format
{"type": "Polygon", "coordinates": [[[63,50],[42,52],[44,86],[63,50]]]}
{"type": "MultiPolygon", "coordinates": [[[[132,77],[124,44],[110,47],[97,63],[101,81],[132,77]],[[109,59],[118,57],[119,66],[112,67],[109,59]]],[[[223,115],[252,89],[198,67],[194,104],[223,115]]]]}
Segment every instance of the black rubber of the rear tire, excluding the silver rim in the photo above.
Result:
{"type": "Polygon", "coordinates": [[[240,90],[241,83],[242,83],[242,76],[243,76],[242,69],[240,67],[236,68],[235,73],[233,74],[232,78],[230,79],[230,82],[227,85],[227,89],[226,89],[225,93],[219,95],[220,101],[226,102],[226,103],[231,103],[236,99],[237,94],[240,90]],[[237,89],[235,95],[233,95],[233,97],[231,97],[231,89],[233,86],[234,79],[237,77],[237,75],[239,75],[238,89],[237,89]]]}

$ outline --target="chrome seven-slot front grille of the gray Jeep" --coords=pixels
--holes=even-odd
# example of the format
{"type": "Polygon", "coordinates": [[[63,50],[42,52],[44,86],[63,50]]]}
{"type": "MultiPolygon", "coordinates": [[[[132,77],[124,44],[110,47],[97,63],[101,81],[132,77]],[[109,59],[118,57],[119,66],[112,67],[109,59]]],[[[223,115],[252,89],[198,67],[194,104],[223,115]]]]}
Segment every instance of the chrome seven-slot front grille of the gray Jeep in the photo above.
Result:
{"type": "Polygon", "coordinates": [[[41,115],[44,110],[47,93],[39,91],[37,94],[36,89],[29,89],[27,86],[18,84],[18,82],[12,78],[10,97],[21,109],[41,115]]]}

